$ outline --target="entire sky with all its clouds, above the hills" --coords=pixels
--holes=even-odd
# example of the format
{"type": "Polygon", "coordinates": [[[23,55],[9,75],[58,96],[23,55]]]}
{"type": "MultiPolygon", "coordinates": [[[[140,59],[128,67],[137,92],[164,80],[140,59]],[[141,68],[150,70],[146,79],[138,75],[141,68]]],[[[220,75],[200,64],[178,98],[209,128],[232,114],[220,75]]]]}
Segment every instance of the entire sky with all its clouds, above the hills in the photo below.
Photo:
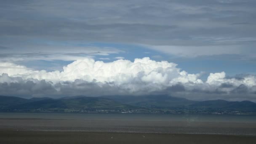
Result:
{"type": "Polygon", "coordinates": [[[0,2],[0,95],[256,102],[255,0],[0,2]]]}

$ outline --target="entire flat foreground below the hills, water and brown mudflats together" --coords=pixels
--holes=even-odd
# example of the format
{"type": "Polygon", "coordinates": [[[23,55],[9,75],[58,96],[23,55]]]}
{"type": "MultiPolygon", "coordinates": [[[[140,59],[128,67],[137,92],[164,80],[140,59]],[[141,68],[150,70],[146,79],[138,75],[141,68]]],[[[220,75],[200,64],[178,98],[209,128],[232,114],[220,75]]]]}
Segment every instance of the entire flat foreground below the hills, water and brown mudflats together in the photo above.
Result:
{"type": "Polygon", "coordinates": [[[254,117],[2,113],[0,144],[255,144],[254,117]]]}

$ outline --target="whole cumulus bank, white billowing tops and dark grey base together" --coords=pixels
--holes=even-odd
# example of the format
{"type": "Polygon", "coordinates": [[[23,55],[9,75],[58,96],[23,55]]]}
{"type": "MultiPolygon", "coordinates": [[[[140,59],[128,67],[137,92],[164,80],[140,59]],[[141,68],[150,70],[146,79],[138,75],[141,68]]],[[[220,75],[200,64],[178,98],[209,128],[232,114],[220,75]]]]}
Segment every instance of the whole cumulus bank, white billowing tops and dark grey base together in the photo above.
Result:
{"type": "Polygon", "coordinates": [[[37,71],[13,63],[0,63],[2,95],[147,95],[165,93],[188,99],[231,99],[256,101],[256,77],[226,77],[211,73],[207,80],[189,74],[168,61],[149,58],[109,63],[79,59],[62,71],[37,71]]]}

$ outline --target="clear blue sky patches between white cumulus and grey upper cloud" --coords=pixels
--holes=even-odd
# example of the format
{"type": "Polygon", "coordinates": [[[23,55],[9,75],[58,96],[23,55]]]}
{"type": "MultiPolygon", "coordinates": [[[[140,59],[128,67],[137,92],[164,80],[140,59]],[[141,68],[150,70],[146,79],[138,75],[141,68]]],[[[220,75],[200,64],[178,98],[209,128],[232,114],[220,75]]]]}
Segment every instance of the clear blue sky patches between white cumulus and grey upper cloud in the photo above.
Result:
{"type": "MultiPolygon", "coordinates": [[[[118,53],[110,53],[108,55],[95,55],[93,59],[104,62],[111,62],[117,60],[116,57],[123,57],[124,59],[134,61],[136,58],[150,57],[155,61],[169,61],[178,64],[178,67],[186,70],[189,73],[203,72],[202,78],[208,77],[209,73],[226,72],[227,75],[233,77],[240,74],[256,74],[256,63],[251,59],[240,59],[234,54],[212,55],[212,56],[197,56],[184,57],[179,55],[172,55],[157,50],[152,50],[144,45],[122,44],[122,43],[67,43],[67,42],[43,42],[47,45],[61,47],[62,45],[69,47],[97,47],[97,48],[115,48],[120,50],[118,53]]],[[[80,54],[80,56],[88,56],[87,54],[80,54]]],[[[20,61],[18,64],[25,65],[30,68],[47,71],[62,70],[63,66],[72,63],[73,61],[66,60],[32,60],[20,61]]]]}

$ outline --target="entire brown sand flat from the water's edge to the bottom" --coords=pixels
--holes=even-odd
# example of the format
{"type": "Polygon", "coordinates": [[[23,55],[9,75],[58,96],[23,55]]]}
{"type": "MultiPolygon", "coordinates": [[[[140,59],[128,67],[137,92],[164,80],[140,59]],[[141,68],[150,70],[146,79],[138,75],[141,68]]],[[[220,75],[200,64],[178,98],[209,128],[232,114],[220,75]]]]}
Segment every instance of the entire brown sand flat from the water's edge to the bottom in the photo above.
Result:
{"type": "Polygon", "coordinates": [[[0,119],[0,144],[255,144],[256,123],[0,119]]]}

